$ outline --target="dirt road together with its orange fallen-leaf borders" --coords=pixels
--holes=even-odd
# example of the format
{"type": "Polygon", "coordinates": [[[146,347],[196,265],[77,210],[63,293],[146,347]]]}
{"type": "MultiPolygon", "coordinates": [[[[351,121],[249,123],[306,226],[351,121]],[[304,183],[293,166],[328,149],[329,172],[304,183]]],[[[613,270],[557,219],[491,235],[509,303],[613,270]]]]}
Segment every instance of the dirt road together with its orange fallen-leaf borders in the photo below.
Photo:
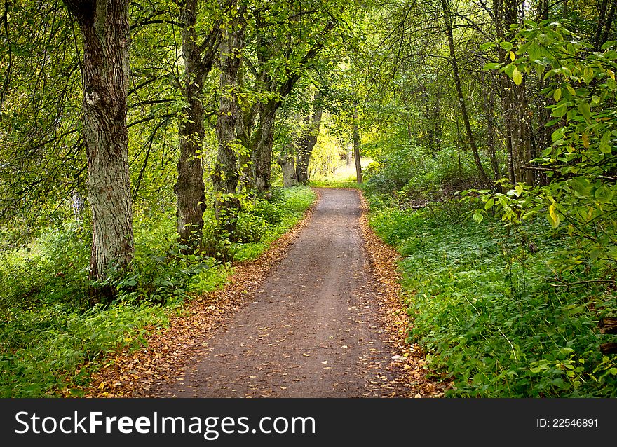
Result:
{"type": "Polygon", "coordinates": [[[405,343],[396,252],[358,191],[316,206],[225,289],[197,298],[148,347],[121,352],[90,396],[440,397],[405,343]]]}

